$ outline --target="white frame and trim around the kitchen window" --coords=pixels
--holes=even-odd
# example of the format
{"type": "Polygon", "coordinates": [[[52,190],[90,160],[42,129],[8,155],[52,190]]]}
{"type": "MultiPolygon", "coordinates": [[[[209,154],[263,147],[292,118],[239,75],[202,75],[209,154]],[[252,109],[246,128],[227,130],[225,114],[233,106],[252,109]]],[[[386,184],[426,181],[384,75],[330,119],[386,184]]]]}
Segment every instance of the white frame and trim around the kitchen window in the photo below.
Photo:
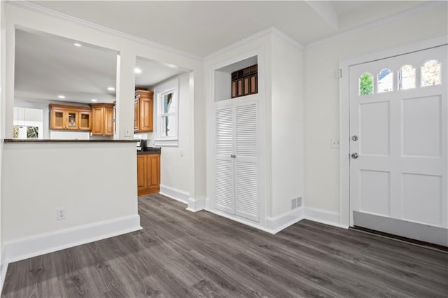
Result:
{"type": "Polygon", "coordinates": [[[154,134],[154,145],[155,146],[179,146],[179,78],[176,78],[174,80],[169,80],[166,83],[163,83],[162,85],[155,86],[154,88],[154,94],[155,94],[155,134],[154,134]],[[174,136],[161,136],[160,133],[162,132],[162,97],[163,94],[167,92],[173,92],[174,93],[174,106],[176,107],[176,112],[174,114],[176,118],[176,125],[175,128],[175,134],[174,136]]]}

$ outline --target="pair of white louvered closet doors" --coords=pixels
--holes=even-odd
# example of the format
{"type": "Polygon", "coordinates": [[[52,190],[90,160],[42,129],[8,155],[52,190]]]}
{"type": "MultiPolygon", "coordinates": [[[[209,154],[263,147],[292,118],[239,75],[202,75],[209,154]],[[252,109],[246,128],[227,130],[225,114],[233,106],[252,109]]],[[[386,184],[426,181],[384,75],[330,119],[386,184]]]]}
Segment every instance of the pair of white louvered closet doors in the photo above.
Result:
{"type": "Polygon", "coordinates": [[[214,207],[258,222],[258,101],[222,104],[215,110],[214,207]]]}

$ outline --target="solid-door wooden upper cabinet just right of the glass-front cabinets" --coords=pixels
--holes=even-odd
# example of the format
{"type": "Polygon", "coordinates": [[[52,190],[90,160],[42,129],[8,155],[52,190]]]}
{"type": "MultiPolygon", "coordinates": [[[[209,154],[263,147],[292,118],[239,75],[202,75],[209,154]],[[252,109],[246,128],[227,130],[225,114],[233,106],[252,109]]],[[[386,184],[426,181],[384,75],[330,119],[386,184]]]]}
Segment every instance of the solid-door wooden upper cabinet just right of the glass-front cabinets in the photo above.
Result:
{"type": "Polygon", "coordinates": [[[113,136],[113,104],[90,104],[92,136],[113,136]]]}

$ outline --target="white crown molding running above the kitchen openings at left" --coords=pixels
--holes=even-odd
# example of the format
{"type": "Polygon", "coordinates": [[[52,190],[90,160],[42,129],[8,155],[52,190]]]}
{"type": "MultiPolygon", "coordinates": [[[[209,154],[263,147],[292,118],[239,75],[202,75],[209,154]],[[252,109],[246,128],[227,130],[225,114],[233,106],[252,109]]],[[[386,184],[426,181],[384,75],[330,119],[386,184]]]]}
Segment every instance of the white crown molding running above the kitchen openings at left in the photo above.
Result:
{"type": "Polygon", "coordinates": [[[23,9],[26,9],[26,10],[34,11],[36,13],[42,13],[44,15],[49,15],[49,16],[52,16],[52,17],[58,17],[59,19],[62,19],[62,20],[68,20],[70,22],[74,22],[76,24],[80,24],[83,27],[87,27],[87,28],[90,28],[90,29],[95,29],[97,31],[102,31],[102,32],[107,33],[107,34],[113,34],[114,36],[125,38],[128,41],[134,41],[135,43],[141,43],[141,44],[144,44],[144,45],[151,45],[151,46],[153,46],[155,48],[159,48],[160,50],[166,50],[168,52],[172,52],[174,54],[181,55],[181,56],[189,58],[189,59],[194,59],[194,60],[200,61],[200,62],[204,61],[204,59],[202,57],[190,54],[189,52],[184,52],[183,50],[172,48],[172,47],[169,47],[167,45],[162,45],[161,43],[155,43],[153,41],[148,41],[148,39],[140,38],[140,37],[137,37],[137,36],[134,36],[134,35],[131,35],[131,34],[127,34],[127,33],[124,33],[122,31],[118,31],[116,29],[111,29],[109,27],[105,27],[105,26],[102,26],[100,24],[95,24],[93,22],[88,22],[88,21],[82,20],[82,19],[80,19],[78,17],[73,17],[71,15],[66,15],[65,13],[60,13],[59,11],[52,10],[50,8],[45,8],[43,6],[39,6],[37,4],[30,3],[30,2],[28,2],[26,0],[6,1],[6,3],[8,3],[10,5],[13,5],[13,6],[16,6],[18,8],[23,8],[23,9]]]}

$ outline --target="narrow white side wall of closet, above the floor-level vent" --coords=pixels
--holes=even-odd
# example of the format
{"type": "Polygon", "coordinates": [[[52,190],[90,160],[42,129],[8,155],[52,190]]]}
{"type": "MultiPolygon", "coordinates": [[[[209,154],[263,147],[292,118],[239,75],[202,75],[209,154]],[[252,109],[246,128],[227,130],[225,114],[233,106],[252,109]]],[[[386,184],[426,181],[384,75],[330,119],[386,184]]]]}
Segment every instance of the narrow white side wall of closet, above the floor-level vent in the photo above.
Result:
{"type": "Polygon", "coordinates": [[[303,194],[302,51],[272,35],[272,217],[303,194]]]}

